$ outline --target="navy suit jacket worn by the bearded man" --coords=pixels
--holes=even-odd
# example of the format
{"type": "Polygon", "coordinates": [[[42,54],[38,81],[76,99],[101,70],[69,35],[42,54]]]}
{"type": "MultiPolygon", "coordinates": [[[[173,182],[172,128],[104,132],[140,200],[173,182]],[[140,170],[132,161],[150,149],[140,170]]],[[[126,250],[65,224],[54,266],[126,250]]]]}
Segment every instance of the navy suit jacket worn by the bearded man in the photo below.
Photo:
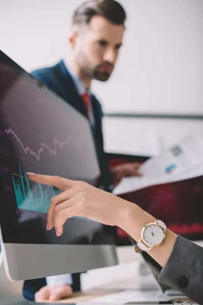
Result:
{"type": "MultiPolygon", "coordinates": [[[[87,116],[83,101],[77,92],[77,88],[74,84],[74,81],[69,71],[67,71],[63,60],[61,60],[61,62],[59,62],[53,67],[33,71],[31,75],[41,81],[44,85],[46,85],[49,89],[51,89],[67,103],[72,105],[84,116],[87,116]]],[[[95,121],[94,127],[91,127],[91,129],[101,171],[101,181],[103,182],[105,190],[111,191],[111,175],[104,152],[104,141],[101,123],[103,112],[100,103],[94,95],[91,96],[91,104],[95,121]]],[[[72,275],[72,277],[73,290],[80,290],[80,273],[75,273],[74,275],[72,275]]],[[[23,286],[24,297],[29,300],[34,300],[35,293],[45,285],[46,279],[35,279],[25,281],[23,286]]]]}

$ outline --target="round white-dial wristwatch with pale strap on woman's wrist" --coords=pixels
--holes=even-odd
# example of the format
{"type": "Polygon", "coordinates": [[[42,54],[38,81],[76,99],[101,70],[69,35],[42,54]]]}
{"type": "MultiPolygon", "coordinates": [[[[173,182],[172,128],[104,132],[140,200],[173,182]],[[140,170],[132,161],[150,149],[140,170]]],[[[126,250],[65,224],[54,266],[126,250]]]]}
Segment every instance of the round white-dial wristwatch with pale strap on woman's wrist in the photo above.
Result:
{"type": "Polygon", "coordinates": [[[160,246],[165,239],[165,231],[166,225],[161,220],[147,224],[143,227],[141,237],[134,247],[134,250],[139,253],[160,246]]]}

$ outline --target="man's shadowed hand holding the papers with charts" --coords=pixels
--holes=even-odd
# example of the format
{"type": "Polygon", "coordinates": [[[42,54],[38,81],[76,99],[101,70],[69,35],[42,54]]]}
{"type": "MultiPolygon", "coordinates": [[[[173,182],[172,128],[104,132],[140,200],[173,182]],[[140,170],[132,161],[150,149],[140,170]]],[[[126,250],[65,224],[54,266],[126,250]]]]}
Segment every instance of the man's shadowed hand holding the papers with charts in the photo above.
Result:
{"type": "Polygon", "coordinates": [[[139,168],[142,163],[139,162],[131,162],[124,163],[115,166],[112,168],[112,176],[113,176],[113,184],[116,186],[119,184],[122,178],[130,177],[130,176],[141,176],[142,174],[139,172],[139,168]]]}

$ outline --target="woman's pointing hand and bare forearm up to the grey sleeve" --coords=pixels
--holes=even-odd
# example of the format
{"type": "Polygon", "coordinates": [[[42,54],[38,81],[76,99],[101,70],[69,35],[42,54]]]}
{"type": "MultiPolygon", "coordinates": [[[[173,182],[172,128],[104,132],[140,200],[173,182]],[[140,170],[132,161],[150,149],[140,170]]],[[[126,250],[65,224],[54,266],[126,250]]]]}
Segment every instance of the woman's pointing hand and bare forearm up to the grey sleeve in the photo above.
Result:
{"type": "MultiPolygon", "coordinates": [[[[142,227],[156,219],[138,205],[113,194],[98,190],[85,182],[73,181],[58,176],[27,173],[32,181],[57,187],[64,192],[52,197],[47,214],[47,229],[53,226],[57,236],[63,233],[66,219],[79,216],[110,226],[118,226],[134,240],[139,240],[142,227]]],[[[166,239],[160,247],[149,254],[164,266],[174,247],[177,235],[166,230],[166,239]]]]}

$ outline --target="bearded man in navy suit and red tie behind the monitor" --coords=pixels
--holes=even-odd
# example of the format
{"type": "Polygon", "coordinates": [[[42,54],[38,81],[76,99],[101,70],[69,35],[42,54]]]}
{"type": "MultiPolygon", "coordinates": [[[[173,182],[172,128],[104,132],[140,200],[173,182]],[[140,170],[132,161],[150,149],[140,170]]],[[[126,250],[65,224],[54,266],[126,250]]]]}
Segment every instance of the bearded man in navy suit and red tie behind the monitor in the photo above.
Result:
{"type": "MultiPolygon", "coordinates": [[[[110,172],[104,152],[101,105],[91,92],[93,79],[107,81],[114,69],[125,31],[126,14],[114,0],[90,0],[73,17],[69,54],[53,67],[31,74],[86,116],[92,128],[101,181],[111,192],[124,176],[138,175],[138,164],[123,164],[110,172]]],[[[24,295],[36,301],[57,300],[80,290],[79,274],[25,281],[24,295]],[[48,284],[48,285],[46,285],[48,284]],[[39,290],[39,291],[38,291],[39,290]],[[38,291],[38,292],[37,292],[38,291]],[[36,293],[37,292],[37,293],[36,293]]]]}

